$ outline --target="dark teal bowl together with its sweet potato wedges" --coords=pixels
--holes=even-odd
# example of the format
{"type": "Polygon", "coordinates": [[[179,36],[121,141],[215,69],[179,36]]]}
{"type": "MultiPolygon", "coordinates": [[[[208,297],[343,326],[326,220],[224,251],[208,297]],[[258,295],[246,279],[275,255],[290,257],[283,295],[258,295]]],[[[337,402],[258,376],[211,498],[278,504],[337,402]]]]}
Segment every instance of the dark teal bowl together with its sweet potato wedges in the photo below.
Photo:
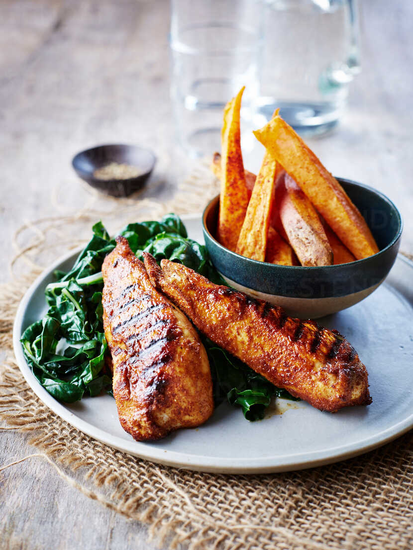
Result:
{"type": "Polygon", "coordinates": [[[316,318],[356,304],[393,266],[398,209],[367,185],[333,177],[278,111],[254,131],[265,147],[258,174],[246,171],[242,92],[227,103],[211,163],[221,181],[203,215],[211,260],[231,287],[289,315],[316,318]]]}

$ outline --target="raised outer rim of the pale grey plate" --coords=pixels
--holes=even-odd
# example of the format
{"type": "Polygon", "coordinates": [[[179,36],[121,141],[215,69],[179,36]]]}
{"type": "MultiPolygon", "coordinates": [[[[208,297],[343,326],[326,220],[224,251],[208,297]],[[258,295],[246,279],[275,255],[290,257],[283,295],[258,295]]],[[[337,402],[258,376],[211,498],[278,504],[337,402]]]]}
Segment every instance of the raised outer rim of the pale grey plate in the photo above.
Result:
{"type": "MultiPolygon", "coordinates": [[[[188,221],[196,220],[198,218],[201,219],[201,217],[201,213],[181,216],[182,219],[187,219],[188,221]]],[[[304,453],[283,455],[281,459],[277,458],[276,455],[254,459],[238,458],[236,459],[236,464],[234,464],[233,458],[213,456],[206,457],[205,455],[171,451],[162,447],[148,447],[148,444],[134,441],[132,438],[131,441],[126,441],[126,439],[113,436],[112,434],[97,428],[93,424],[82,420],[79,416],[67,409],[64,404],[59,403],[59,401],[53,398],[52,395],[50,395],[46,389],[40,385],[25,360],[20,344],[20,337],[23,328],[23,317],[32,295],[36,292],[37,288],[40,287],[44,279],[48,277],[58,265],[64,261],[67,261],[75,254],[78,254],[81,249],[83,249],[83,246],[70,250],[65,255],[59,257],[50,266],[46,267],[45,270],[42,271],[38,277],[36,277],[35,281],[30,285],[28,290],[26,290],[18,306],[13,324],[13,348],[20,372],[23,374],[26,382],[29,384],[30,388],[34,391],[37,397],[42,401],[42,403],[60,416],[64,421],[68,422],[71,426],[77,428],[77,430],[83,433],[86,433],[88,436],[96,439],[97,441],[109,445],[110,447],[121,452],[126,452],[133,456],[137,456],[138,458],[181,469],[221,474],[264,474],[270,472],[302,470],[353,458],[393,441],[393,439],[402,436],[413,427],[412,413],[404,420],[401,420],[395,425],[382,430],[374,436],[349,443],[344,447],[333,447],[310,452],[306,451],[304,453]]],[[[400,253],[397,255],[397,260],[399,259],[403,260],[410,268],[413,269],[413,262],[411,260],[407,259],[400,253]]]]}

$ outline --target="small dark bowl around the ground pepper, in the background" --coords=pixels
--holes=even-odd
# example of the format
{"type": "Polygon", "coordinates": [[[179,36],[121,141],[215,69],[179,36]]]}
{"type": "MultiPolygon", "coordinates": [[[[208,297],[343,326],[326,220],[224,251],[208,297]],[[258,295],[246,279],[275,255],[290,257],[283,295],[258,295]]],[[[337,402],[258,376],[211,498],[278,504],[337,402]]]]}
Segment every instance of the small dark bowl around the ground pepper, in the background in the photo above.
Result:
{"type": "Polygon", "coordinates": [[[99,145],[81,151],[73,157],[72,166],[79,178],[113,197],[127,197],[142,189],[155,166],[155,155],[149,149],[136,145],[99,145]],[[111,162],[129,164],[142,173],[128,179],[99,179],[93,173],[111,162]]]}

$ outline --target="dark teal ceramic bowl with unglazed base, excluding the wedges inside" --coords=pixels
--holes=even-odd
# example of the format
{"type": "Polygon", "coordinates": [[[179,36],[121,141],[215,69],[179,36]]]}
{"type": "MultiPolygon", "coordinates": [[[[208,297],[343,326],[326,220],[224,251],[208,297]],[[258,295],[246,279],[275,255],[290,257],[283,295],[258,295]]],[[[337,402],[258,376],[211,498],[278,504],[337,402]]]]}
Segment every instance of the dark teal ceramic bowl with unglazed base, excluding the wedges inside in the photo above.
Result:
{"type": "Polygon", "coordinates": [[[235,254],[215,239],[219,195],[206,206],[203,232],[211,260],[231,287],[280,305],[298,317],[322,317],[350,307],[371,294],[387,277],[400,246],[402,221],[385,195],[367,185],[338,178],[366,219],[379,252],[338,266],[279,266],[235,254]]]}

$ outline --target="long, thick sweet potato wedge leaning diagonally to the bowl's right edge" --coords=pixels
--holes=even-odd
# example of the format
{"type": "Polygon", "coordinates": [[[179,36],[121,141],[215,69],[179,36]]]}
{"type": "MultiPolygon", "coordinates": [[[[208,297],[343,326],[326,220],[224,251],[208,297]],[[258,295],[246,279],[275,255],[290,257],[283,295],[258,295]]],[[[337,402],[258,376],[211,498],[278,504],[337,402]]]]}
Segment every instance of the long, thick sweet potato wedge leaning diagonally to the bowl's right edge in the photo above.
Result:
{"type": "Polygon", "coordinates": [[[295,179],[357,259],[378,252],[365,219],[344,189],[279,114],[254,135],[295,179]]]}

